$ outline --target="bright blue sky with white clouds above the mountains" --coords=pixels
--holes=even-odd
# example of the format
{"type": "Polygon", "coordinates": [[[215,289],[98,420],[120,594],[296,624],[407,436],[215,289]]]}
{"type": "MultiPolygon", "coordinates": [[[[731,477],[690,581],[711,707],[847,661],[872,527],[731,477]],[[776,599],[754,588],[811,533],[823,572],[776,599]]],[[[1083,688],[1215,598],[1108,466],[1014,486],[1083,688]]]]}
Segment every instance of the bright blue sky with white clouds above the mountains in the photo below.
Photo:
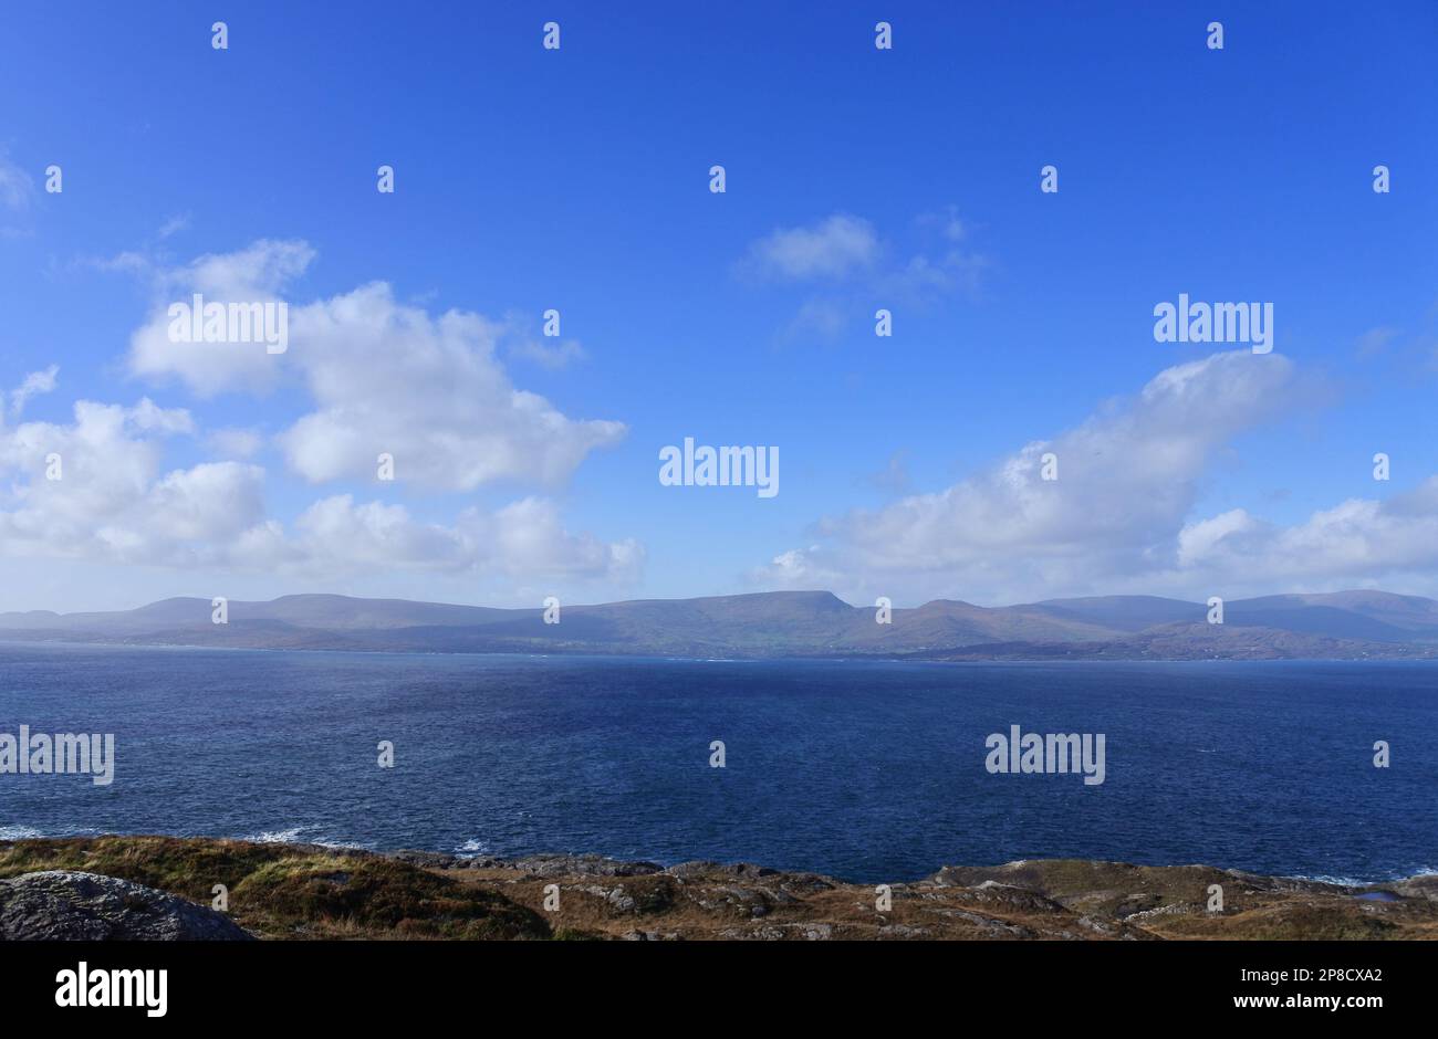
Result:
{"type": "Polygon", "coordinates": [[[1438,591],[1438,6],[489,7],[7,13],[0,387],[58,371],[0,428],[0,608],[1438,591]],[[216,292],[326,320],[364,286],[388,302],[324,345],[312,310],[259,392],[197,387],[135,336],[201,257],[216,292]],[[1271,302],[1274,352],[1155,342],[1179,293],[1271,302]],[[539,336],[546,308],[577,346],[539,336]],[[452,310],[485,331],[440,354],[479,356],[490,395],[440,408],[444,437],[513,464],[418,486],[398,453],[381,483],[289,435],[378,408],[418,450],[436,408],[385,320],[440,336],[452,310]],[[536,447],[510,391],[564,443],[536,447]],[[118,440],[76,401],[131,410],[118,440]],[[781,493],[661,486],[684,437],[778,445],[781,493]],[[53,486],[49,443],[88,453],[53,486]],[[1054,486],[1031,444],[1060,445],[1054,486]]]}

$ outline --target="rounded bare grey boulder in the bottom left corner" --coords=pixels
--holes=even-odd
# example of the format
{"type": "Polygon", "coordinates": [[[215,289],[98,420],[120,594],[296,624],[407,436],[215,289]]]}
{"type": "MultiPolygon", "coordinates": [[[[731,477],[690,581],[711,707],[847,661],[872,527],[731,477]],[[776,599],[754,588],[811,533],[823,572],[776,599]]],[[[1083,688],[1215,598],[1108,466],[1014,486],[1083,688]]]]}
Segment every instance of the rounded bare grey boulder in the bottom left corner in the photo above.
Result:
{"type": "Polygon", "coordinates": [[[115,877],[49,869],[0,881],[4,941],[247,941],[206,905],[115,877]]]}

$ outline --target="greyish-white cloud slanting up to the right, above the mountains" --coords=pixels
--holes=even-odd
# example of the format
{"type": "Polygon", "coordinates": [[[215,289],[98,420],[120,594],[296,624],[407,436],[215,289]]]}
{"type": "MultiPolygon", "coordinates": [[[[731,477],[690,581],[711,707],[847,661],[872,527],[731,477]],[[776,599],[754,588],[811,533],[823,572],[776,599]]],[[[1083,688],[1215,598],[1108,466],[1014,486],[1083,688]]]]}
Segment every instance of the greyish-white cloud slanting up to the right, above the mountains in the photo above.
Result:
{"type": "Polygon", "coordinates": [[[1189,526],[1217,453],[1299,389],[1291,362],[1276,354],[1168,368],[1136,397],[942,491],[821,522],[818,546],[785,552],[754,576],[991,601],[1172,581],[1244,529],[1238,517],[1189,526]],[[1050,454],[1051,481],[1043,479],[1050,454]]]}

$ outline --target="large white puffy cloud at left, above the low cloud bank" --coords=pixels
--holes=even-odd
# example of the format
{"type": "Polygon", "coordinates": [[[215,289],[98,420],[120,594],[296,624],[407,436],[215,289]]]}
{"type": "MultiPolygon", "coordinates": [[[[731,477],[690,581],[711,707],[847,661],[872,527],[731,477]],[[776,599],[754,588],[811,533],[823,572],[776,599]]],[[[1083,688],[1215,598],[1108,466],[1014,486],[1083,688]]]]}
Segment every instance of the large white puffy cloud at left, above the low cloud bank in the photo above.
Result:
{"type": "MultiPolygon", "coordinates": [[[[164,283],[201,292],[206,302],[278,302],[312,259],[305,243],[259,241],[201,257],[164,283]]],[[[201,395],[263,391],[293,378],[313,410],[278,443],[312,483],[370,479],[377,457],[391,454],[398,481],[431,490],[498,480],[555,486],[590,451],[618,443],[626,427],[568,418],[516,388],[496,356],[508,329],[463,310],[433,316],[375,282],[290,306],[289,349],[273,355],[262,343],[170,342],[168,318],[157,308],[134,335],[129,362],[139,375],[180,378],[201,395]]]]}

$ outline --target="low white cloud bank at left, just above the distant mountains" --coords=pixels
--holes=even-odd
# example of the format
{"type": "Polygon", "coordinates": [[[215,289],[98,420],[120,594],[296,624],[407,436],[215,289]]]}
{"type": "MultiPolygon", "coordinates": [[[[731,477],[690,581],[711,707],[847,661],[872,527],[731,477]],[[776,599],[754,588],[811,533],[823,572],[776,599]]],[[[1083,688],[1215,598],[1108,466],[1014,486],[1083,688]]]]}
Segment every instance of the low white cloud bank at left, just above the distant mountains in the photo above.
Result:
{"type": "Polygon", "coordinates": [[[446,526],[341,494],[313,503],[286,530],[267,513],[260,466],[162,470],[164,441],[194,433],[188,411],[150,400],[131,408],[81,401],[70,424],[4,431],[0,473],[13,486],[0,497],[0,553],[316,581],[417,569],[627,582],[644,562],[637,542],[565,530],[555,503],[538,497],[496,512],[470,507],[446,526]]]}

